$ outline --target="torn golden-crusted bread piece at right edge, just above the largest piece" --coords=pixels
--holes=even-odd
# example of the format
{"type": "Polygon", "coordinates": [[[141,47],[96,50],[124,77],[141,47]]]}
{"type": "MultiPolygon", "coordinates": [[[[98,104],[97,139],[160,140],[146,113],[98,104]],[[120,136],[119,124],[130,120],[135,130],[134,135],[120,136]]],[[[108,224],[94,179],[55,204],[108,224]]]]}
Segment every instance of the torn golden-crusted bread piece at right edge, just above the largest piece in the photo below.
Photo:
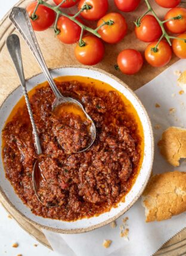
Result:
{"type": "Polygon", "coordinates": [[[179,160],[186,158],[186,129],[169,127],[157,144],[166,161],[173,166],[179,166],[179,160]]]}

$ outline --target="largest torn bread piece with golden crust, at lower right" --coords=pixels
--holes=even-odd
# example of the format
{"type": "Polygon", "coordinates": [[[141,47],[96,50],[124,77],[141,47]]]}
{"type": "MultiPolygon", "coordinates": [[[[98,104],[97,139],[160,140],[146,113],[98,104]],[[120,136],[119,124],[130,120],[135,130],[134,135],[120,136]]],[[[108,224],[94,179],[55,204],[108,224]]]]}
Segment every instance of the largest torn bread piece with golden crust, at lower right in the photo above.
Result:
{"type": "Polygon", "coordinates": [[[142,195],[146,222],[161,221],[186,211],[186,172],[165,172],[150,178],[142,195]]]}

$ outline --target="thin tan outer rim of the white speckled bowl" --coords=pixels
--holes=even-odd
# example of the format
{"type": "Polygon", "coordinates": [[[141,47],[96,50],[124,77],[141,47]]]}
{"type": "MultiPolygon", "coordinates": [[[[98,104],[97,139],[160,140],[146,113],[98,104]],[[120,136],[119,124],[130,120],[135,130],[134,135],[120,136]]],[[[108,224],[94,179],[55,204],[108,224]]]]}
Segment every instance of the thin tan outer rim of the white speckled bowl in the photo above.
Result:
{"type": "MultiPolygon", "coordinates": [[[[145,181],[144,183],[142,184],[141,186],[141,189],[139,190],[137,196],[135,196],[135,198],[132,200],[131,203],[129,203],[129,205],[127,205],[124,209],[122,209],[122,211],[120,211],[117,215],[114,215],[114,217],[111,217],[111,218],[108,218],[107,220],[105,221],[102,221],[101,223],[99,224],[95,224],[95,225],[92,225],[91,227],[86,227],[86,228],[81,228],[81,229],[69,229],[69,230],[64,230],[64,229],[55,229],[54,227],[48,227],[48,226],[45,226],[43,224],[39,224],[37,223],[36,221],[33,221],[31,220],[29,217],[26,217],[26,215],[24,215],[22,212],[20,212],[16,206],[13,205],[13,203],[10,201],[10,199],[8,199],[8,197],[5,195],[5,192],[3,191],[2,187],[0,186],[0,196],[1,196],[1,200],[2,200],[2,203],[4,202],[7,202],[8,203],[8,206],[13,209],[13,211],[16,211],[17,214],[19,214],[24,220],[26,220],[27,222],[29,222],[30,224],[33,224],[34,226],[37,226],[39,229],[45,229],[45,230],[49,230],[49,231],[52,231],[52,232],[55,232],[55,233],[64,233],[64,234],[78,234],[78,233],[85,233],[85,232],[89,232],[89,231],[92,231],[92,230],[95,230],[95,229],[98,229],[99,227],[103,227],[103,226],[106,226],[107,224],[111,223],[112,221],[116,220],[117,218],[119,218],[121,215],[123,215],[126,211],[128,211],[132,205],[134,205],[135,202],[137,202],[137,200],[139,199],[139,197],[142,195],[142,192],[144,192],[144,189],[145,187],[147,186],[147,183],[148,183],[148,180],[151,176],[151,172],[152,172],[152,168],[153,168],[153,161],[154,161],[154,136],[153,136],[153,128],[152,128],[152,125],[151,125],[151,121],[150,121],[150,118],[148,116],[148,113],[147,111],[145,110],[145,107],[144,105],[142,104],[141,100],[139,100],[138,96],[135,94],[134,91],[132,91],[131,88],[129,88],[128,85],[125,84],[125,82],[123,82],[121,79],[117,78],[117,76],[114,76],[113,74],[103,70],[103,69],[100,69],[100,68],[97,68],[97,67],[89,67],[89,66],[81,66],[81,65],[61,65],[61,66],[57,66],[57,67],[54,67],[54,68],[49,68],[49,70],[56,70],[56,69],[65,69],[65,68],[80,68],[80,69],[85,69],[85,70],[94,70],[96,72],[100,72],[100,73],[103,73],[104,75],[107,75],[107,76],[110,76],[110,78],[114,79],[115,81],[117,81],[119,84],[121,84],[123,87],[126,88],[126,90],[128,90],[129,92],[131,92],[131,94],[133,95],[133,97],[135,98],[135,100],[138,101],[138,103],[141,105],[142,107],[142,110],[145,114],[145,117],[147,118],[147,121],[148,121],[148,127],[150,129],[150,141],[151,141],[151,152],[150,152],[150,156],[151,156],[151,164],[150,164],[150,167],[149,167],[149,170],[148,170],[148,175],[147,177],[145,178],[145,181]],[[4,202],[3,202],[4,201],[4,202]]],[[[27,78],[26,81],[29,81],[30,79],[36,77],[36,76],[39,76],[41,75],[41,73],[37,73],[36,75],[33,75],[31,76],[30,78],[27,78]]],[[[17,88],[20,87],[20,84],[14,88],[13,91],[11,91],[6,97],[5,99],[2,101],[1,103],[1,106],[0,106],[0,109],[1,107],[3,106],[3,104],[5,103],[5,101],[7,100],[7,98],[13,94],[14,91],[17,90],[17,88]]],[[[2,157],[2,156],[1,156],[2,157]]],[[[16,192],[15,192],[16,193],[16,192]]]]}

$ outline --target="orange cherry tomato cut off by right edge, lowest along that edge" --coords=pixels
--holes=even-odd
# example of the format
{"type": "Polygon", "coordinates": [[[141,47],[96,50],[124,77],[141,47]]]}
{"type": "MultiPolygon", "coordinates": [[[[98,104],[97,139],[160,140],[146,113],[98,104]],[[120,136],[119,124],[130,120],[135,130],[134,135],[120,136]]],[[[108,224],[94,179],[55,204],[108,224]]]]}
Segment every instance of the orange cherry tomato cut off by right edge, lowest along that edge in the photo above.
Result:
{"type": "Polygon", "coordinates": [[[180,39],[173,39],[172,50],[178,58],[186,58],[186,33],[177,36],[178,38],[184,38],[185,41],[180,39]]]}

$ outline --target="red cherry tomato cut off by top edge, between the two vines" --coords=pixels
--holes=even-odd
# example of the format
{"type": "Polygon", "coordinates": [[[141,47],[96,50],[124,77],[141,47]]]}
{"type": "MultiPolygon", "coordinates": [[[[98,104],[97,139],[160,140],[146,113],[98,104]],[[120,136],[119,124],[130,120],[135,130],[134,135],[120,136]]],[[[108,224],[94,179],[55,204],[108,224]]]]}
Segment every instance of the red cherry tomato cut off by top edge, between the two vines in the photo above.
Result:
{"type": "Polygon", "coordinates": [[[134,11],[137,9],[141,0],[114,0],[116,7],[120,11],[134,11]]]}

